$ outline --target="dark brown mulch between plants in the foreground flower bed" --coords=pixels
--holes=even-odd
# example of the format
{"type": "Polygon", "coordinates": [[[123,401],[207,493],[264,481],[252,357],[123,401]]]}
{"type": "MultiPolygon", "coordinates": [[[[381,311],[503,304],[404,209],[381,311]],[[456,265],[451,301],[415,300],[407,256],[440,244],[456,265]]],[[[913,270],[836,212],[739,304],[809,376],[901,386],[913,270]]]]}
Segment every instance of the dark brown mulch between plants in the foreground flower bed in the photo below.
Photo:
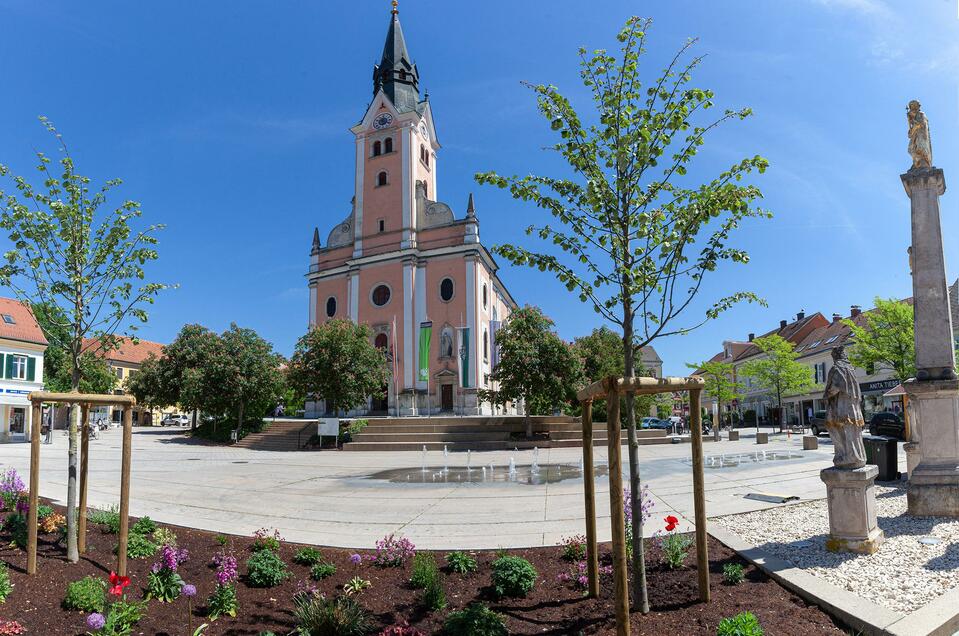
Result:
{"type": "MultiPolygon", "coordinates": [[[[62,511],[61,511],[62,512],[62,511]]],[[[198,589],[193,603],[192,625],[203,622],[205,599],[213,590],[214,578],[210,559],[222,548],[210,532],[174,527],[180,547],[190,552],[190,559],[181,566],[181,574],[188,583],[198,589]]],[[[64,559],[64,550],[53,543],[52,537],[41,537],[39,568],[36,576],[26,576],[26,553],[8,547],[9,537],[2,537],[0,558],[10,564],[10,573],[15,585],[6,604],[0,605],[0,618],[20,621],[29,634],[70,635],[84,634],[85,615],[68,612],[60,607],[67,583],[87,574],[106,576],[114,564],[112,550],[116,536],[105,534],[96,526],[89,533],[89,551],[79,563],[70,564],[64,559]]],[[[246,586],[242,575],[246,572],[245,561],[250,554],[252,539],[230,537],[228,549],[240,560],[241,580],[238,584],[240,614],[236,619],[221,618],[206,632],[210,636],[220,634],[259,634],[271,630],[287,634],[293,628],[291,598],[302,581],[309,580],[309,570],[293,563],[293,555],[300,546],[284,544],[280,554],[294,576],[272,589],[253,589],[246,586]]],[[[601,546],[604,560],[608,561],[609,546],[601,546]]],[[[715,634],[719,621],[742,611],[751,611],[759,618],[766,634],[807,636],[812,634],[843,634],[830,618],[815,606],[810,606],[770,580],[756,568],[749,566],[746,580],[737,586],[722,582],[722,567],[732,561],[741,562],[731,550],[720,543],[710,541],[710,579],[712,602],[699,603],[696,583],[695,554],[691,554],[687,566],[681,570],[668,571],[659,564],[659,549],[655,542],[649,544],[649,594],[653,611],[642,616],[633,614],[633,634],[715,634]]],[[[471,601],[482,600],[507,617],[511,634],[609,634],[614,632],[614,613],[610,601],[611,581],[603,582],[602,596],[589,600],[569,583],[561,583],[557,576],[569,571],[570,564],[561,559],[560,548],[535,548],[510,550],[510,554],[526,557],[536,566],[540,578],[528,598],[495,599],[490,590],[490,563],[497,557],[495,552],[476,552],[479,571],[472,575],[458,575],[443,571],[443,579],[449,607],[429,613],[418,603],[419,592],[410,588],[409,564],[402,568],[382,569],[364,562],[353,565],[349,550],[323,549],[326,558],[336,564],[337,572],[324,581],[315,582],[320,591],[336,594],[342,585],[354,576],[372,582],[372,587],[360,596],[381,626],[408,620],[427,633],[438,633],[443,618],[455,609],[461,609],[471,601]]],[[[363,551],[369,554],[369,551],[363,551]]],[[[437,553],[442,564],[445,553],[437,553]]],[[[131,595],[138,595],[146,584],[147,574],[153,559],[130,561],[131,595]]],[[[181,597],[171,604],[151,601],[147,615],[134,633],[182,636],[192,633],[188,629],[187,599],[181,597]]]]}

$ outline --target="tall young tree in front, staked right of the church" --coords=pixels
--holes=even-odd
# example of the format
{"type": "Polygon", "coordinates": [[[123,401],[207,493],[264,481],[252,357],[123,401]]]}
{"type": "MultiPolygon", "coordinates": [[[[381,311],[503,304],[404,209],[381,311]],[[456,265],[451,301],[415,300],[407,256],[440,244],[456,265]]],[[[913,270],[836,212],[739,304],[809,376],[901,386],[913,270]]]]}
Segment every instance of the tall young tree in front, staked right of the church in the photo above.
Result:
{"type": "MultiPolygon", "coordinates": [[[[560,140],[551,150],[569,165],[560,177],[476,175],[479,183],[508,188],[516,199],[543,208],[557,225],[527,228],[560,254],[518,245],[494,251],[517,265],[552,272],[566,288],[622,330],[624,372],[636,372],[636,356],[658,338],[696,329],[740,301],[761,302],[740,291],[713,300],[689,317],[707,273],[725,261],[746,263],[729,244],[745,219],[766,217],[753,206],[758,188],[742,183],[767,161],[755,156],[697,185],[687,170],[706,134],[750,110],[727,110],[698,123],[713,106],[713,93],[690,85],[702,58],[687,61],[690,40],[666,69],[643,85],[640,56],[651,20],[630,18],[620,31],[620,55],[580,49],[583,83],[596,112],[581,117],[559,89],[533,85],[537,105],[560,140]],[[695,120],[695,121],[694,121],[695,120]],[[566,176],[571,174],[571,177],[566,176]]],[[[633,602],[649,611],[640,520],[639,459],[635,409],[626,401],[632,508],[633,602]]]]}

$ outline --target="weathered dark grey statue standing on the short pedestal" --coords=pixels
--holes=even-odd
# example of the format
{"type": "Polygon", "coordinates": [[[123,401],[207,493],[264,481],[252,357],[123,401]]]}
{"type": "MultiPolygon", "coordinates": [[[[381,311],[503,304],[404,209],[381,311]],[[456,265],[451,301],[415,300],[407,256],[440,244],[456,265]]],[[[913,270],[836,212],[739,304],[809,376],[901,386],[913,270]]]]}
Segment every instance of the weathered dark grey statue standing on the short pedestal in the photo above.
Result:
{"type": "Polygon", "coordinates": [[[852,364],[842,346],[832,350],[833,367],[826,378],[826,429],[832,438],[836,468],[853,470],[866,465],[866,449],[862,443],[862,392],[852,364]]]}

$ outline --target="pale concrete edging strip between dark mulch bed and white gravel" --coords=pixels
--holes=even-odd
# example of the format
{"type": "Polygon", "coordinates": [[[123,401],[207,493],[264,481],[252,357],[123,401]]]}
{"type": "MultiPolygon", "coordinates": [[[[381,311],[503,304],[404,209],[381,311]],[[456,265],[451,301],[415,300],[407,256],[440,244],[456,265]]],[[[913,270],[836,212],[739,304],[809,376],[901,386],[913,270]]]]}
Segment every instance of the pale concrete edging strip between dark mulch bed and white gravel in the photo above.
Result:
{"type": "Polygon", "coordinates": [[[902,614],[753,547],[717,524],[710,525],[709,534],[786,589],[869,636],[951,636],[959,629],[959,588],[946,592],[911,614],[902,614]]]}

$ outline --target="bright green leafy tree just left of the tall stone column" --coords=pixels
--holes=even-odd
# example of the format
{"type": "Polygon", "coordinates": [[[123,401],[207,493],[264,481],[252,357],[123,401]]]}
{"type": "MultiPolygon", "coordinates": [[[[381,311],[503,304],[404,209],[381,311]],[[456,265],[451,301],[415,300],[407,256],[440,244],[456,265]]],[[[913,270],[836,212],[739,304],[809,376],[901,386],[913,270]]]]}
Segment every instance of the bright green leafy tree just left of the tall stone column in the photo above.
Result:
{"type": "Polygon", "coordinates": [[[900,382],[916,375],[914,311],[910,303],[876,298],[876,308],[863,314],[865,325],[848,318],[843,323],[852,330],[849,361],[857,367],[887,367],[900,382]]]}

